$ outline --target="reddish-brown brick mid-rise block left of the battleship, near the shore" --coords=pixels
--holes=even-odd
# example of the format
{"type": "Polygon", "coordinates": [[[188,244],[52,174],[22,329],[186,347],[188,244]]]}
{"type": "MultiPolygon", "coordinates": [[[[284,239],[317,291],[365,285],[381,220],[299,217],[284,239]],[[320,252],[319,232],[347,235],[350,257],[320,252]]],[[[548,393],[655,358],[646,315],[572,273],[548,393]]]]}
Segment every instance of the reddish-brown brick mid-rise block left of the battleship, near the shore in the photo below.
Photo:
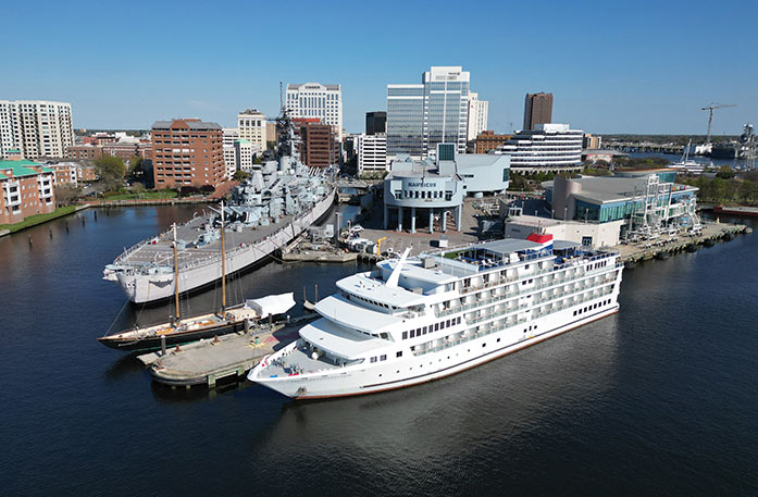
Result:
{"type": "Polygon", "coordinates": [[[198,119],[152,125],[156,188],[218,186],[224,181],[221,126],[198,119]]]}

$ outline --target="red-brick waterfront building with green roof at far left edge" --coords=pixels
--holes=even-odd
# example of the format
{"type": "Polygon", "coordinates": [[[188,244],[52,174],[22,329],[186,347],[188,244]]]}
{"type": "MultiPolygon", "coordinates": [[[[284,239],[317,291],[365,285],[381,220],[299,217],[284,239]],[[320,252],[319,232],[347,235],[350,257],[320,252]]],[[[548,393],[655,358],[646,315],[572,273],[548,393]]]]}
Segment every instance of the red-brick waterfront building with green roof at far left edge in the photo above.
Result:
{"type": "Polygon", "coordinates": [[[11,149],[12,159],[0,160],[0,224],[14,224],[29,215],[55,210],[54,171],[38,162],[21,159],[11,149]]]}

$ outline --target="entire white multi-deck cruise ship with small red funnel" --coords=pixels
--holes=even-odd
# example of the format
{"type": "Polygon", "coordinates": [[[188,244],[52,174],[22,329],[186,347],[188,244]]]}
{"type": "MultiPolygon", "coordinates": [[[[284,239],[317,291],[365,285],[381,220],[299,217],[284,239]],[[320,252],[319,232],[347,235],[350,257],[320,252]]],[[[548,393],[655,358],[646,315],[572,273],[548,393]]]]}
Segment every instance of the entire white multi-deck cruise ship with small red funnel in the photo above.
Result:
{"type": "Polygon", "coordinates": [[[618,311],[618,253],[504,239],[380,262],[339,293],[252,382],[294,398],[370,394],[437,380],[618,311]]]}

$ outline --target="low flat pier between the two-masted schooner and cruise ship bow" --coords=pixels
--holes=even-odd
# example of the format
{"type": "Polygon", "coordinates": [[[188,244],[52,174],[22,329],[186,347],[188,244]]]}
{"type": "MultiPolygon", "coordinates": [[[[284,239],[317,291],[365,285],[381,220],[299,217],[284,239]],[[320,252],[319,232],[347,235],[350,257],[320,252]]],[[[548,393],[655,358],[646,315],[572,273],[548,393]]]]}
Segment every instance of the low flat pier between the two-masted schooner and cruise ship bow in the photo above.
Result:
{"type": "Polygon", "coordinates": [[[146,353],[138,359],[150,366],[150,374],[159,383],[172,387],[207,385],[214,388],[221,378],[244,376],[278,345],[296,339],[303,321],[314,318],[305,315],[286,325],[278,323],[252,328],[248,333],[222,335],[172,348],[165,353],[146,353]]]}

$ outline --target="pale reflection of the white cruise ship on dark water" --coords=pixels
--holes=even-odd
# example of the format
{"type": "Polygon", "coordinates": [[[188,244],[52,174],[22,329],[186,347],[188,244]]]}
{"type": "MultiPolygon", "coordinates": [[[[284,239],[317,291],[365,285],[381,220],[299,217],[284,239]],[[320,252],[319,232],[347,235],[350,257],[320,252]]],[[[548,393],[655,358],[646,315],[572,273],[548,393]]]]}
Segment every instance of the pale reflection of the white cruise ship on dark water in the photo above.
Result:
{"type": "Polygon", "coordinates": [[[313,446],[412,463],[409,455],[444,458],[539,430],[562,415],[583,415],[614,378],[616,315],[524,351],[421,386],[361,397],[284,403],[259,457],[307,458],[313,446]]]}

